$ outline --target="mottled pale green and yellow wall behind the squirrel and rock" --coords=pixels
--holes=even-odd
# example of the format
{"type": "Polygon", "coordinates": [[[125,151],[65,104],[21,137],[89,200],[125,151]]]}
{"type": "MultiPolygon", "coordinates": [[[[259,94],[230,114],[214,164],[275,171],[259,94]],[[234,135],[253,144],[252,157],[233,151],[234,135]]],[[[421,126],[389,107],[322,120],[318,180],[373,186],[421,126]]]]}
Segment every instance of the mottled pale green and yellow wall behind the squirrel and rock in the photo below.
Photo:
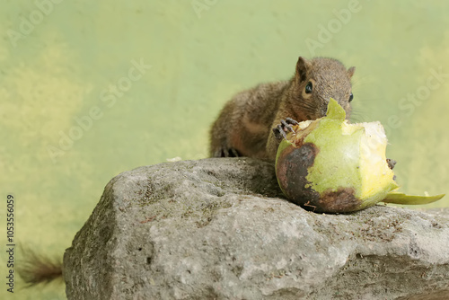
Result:
{"type": "MultiPolygon", "coordinates": [[[[357,66],[353,120],[383,122],[402,190],[446,192],[448,9],[418,0],[2,2],[1,203],[17,199],[17,240],[61,256],[113,176],[206,157],[225,101],[293,75],[300,55],[357,66]],[[137,79],[132,61],[151,68],[137,79]]],[[[1,244],[4,216],[5,204],[1,244]]],[[[64,298],[61,285],[21,286],[23,299],[64,298]]]]}

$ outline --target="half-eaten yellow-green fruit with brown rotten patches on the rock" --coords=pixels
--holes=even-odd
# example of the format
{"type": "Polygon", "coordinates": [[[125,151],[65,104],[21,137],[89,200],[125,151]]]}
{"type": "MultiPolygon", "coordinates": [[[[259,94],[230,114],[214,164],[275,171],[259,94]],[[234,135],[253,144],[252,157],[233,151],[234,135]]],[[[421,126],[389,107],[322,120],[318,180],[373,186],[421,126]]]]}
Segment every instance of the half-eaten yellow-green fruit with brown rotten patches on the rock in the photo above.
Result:
{"type": "MultiPolygon", "coordinates": [[[[386,162],[387,138],[380,122],[349,124],[338,102],[327,115],[294,126],[278,149],[277,181],[287,199],[315,212],[342,213],[374,206],[383,199],[426,199],[393,192],[398,185],[386,162]]],[[[400,200],[398,200],[400,199],[400,200]]],[[[385,200],[387,202],[387,200],[385,200]]]]}

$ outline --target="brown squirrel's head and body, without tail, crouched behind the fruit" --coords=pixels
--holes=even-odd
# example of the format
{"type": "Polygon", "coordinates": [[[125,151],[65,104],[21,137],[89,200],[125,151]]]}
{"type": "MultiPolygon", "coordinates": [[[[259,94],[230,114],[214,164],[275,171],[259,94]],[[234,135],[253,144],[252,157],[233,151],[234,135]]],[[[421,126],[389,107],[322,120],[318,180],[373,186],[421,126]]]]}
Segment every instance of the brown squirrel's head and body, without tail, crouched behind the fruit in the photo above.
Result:
{"type": "Polygon", "coordinates": [[[326,115],[330,97],[350,116],[351,77],[339,60],[299,57],[288,81],[259,84],[225,104],[210,129],[212,157],[251,156],[274,162],[280,139],[290,125],[326,115]]]}

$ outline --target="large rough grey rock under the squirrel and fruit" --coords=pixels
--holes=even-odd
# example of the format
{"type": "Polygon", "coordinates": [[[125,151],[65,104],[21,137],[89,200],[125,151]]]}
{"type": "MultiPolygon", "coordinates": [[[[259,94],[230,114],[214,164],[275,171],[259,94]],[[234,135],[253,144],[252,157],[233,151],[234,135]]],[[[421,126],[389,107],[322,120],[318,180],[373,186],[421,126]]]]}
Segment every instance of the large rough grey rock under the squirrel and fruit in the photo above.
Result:
{"type": "Polygon", "coordinates": [[[64,257],[68,299],[449,299],[449,209],[320,215],[249,158],[106,186],[64,257]]]}

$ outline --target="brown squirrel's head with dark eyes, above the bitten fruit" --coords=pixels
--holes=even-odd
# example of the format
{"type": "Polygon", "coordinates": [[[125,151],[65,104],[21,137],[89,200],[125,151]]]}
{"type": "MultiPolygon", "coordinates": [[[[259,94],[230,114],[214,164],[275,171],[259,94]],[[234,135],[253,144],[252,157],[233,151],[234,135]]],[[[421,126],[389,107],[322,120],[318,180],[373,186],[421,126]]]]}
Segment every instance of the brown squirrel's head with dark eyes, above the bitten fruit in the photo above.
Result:
{"type": "MultiPolygon", "coordinates": [[[[346,110],[347,119],[350,117],[352,94],[351,77],[355,66],[348,69],[337,59],[316,57],[307,60],[299,57],[293,88],[294,101],[304,113],[304,119],[318,119],[326,115],[330,98],[335,99],[346,110]]],[[[300,117],[300,116],[298,116],[300,117]]]]}

